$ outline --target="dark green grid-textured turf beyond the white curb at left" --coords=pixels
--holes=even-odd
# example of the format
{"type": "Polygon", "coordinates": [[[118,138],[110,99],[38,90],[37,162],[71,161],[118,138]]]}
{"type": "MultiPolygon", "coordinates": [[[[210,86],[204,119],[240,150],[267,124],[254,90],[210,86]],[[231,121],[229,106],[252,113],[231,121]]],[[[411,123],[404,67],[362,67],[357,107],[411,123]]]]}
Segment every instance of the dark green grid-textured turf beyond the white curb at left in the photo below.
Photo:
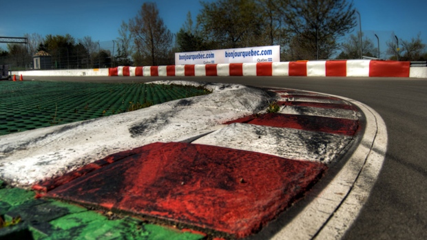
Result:
{"type": "Polygon", "coordinates": [[[209,91],[182,85],[0,81],[0,135],[101,118],[203,94],[209,91]]]}

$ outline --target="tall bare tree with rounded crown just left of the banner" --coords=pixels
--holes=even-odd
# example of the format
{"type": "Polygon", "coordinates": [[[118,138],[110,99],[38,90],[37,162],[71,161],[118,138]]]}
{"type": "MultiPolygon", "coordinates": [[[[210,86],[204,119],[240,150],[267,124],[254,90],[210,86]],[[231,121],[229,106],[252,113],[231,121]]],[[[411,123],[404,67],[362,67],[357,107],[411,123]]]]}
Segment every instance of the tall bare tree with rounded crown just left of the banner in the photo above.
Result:
{"type": "Polygon", "coordinates": [[[134,56],[147,59],[151,65],[167,60],[172,34],[160,18],[156,3],[143,3],[138,15],[130,19],[129,30],[138,50],[134,56]]]}

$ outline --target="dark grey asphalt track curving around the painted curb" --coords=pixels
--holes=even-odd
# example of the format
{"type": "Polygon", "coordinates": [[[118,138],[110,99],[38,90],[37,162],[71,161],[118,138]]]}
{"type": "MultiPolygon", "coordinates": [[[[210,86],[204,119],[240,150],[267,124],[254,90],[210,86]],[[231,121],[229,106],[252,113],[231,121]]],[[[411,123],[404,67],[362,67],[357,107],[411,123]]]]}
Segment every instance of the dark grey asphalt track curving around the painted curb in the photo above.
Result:
{"type": "MultiPolygon", "coordinates": [[[[25,80],[31,77],[25,78],[25,80]]],[[[286,87],[352,98],[386,122],[386,159],[371,196],[344,239],[427,239],[427,79],[315,77],[34,77],[90,82],[194,80],[286,87]]]]}

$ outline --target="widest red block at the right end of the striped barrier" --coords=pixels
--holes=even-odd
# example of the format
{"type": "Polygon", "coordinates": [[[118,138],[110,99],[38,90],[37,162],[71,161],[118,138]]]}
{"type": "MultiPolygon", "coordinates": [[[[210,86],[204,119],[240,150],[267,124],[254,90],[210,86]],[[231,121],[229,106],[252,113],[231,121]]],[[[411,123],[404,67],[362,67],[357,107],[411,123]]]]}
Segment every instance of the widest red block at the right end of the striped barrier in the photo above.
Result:
{"type": "Polygon", "coordinates": [[[410,62],[371,61],[369,76],[386,76],[409,78],[410,62]]]}

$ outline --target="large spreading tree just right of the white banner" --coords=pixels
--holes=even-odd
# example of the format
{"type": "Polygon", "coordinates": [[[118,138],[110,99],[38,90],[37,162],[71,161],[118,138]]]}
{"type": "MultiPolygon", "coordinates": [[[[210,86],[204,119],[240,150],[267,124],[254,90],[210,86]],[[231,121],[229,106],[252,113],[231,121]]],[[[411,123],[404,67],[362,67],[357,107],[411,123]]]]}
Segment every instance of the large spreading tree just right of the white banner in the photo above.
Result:
{"type": "Polygon", "coordinates": [[[337,39],[356,25],[353,3],[346,0],[282,1],[281,10],[294,36],[290,47],[304,59],[327,59],[337,39]]]}

